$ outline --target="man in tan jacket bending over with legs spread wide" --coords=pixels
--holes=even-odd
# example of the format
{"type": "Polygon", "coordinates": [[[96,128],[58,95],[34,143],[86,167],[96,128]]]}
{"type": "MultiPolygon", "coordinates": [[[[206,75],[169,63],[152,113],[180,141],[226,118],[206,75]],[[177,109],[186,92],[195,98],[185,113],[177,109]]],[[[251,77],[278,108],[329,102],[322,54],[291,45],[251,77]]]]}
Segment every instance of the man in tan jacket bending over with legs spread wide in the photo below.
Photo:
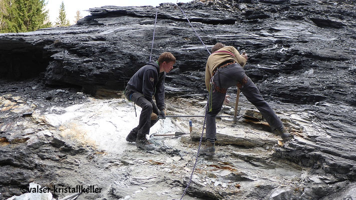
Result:
{"type": "Polygon", "coordinates": [[[290,134],[283,126],[273,109],[263,99],[258,88],[245,74],[242,68],[247,61],[246,54],[240,54],[233,46],[225,46],[218,42],[211,48],[205,68],[205,85],[209,91],[206,116],[206,143],[200,150],[201,154],[215,153],[216,125],[215,117],[221,110],[228,87],[237,85],[262,116],[267,120],[272,131],[280,135],[284,141],[290,134]]]}

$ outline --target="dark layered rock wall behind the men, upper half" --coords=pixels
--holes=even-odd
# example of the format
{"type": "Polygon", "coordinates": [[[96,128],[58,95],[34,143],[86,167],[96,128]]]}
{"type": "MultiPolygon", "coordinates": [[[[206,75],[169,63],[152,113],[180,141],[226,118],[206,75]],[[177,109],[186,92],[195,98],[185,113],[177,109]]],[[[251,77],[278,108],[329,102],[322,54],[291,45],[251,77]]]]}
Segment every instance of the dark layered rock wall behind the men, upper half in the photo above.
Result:
{"type": "MultiPolygon", "coordinates": [[[[356,105],[353,1],[192,1],[181,4],[209,48],[217,41],[246,50],[245,69],[261,91],[284,102],[342,101],[356,105]],[[312,70],[312,71],[310,71],[312,70]]],[[[120,90],[149,61],[171,51],[177,63],[167,83],[173,94],[204,93],[209,56],[175,4],[157,8],[105,6],[78,24],[30,33],[1,34],[0,77],[44,72],[47,84],[87,92],[120,90]],[[195,92],[196,93],[196,92],[195,92]]]]}

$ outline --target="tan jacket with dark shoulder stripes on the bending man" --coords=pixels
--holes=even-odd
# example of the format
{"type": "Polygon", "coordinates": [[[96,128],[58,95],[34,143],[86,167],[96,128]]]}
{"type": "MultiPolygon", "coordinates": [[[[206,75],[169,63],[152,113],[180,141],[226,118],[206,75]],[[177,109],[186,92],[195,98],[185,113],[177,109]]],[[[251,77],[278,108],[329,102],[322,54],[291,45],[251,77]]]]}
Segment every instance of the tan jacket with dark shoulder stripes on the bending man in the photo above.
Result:
{"type": "Polygon", "coordinates": [[[240,55],[240,53],[236,50],[233,46],[225,46],[220,48],[219,50],[215,51],[208,57],[208,61],[206,62],[205,67],[205,85],[206,89],[209,91],[210,89],[210,79],[213,74],[213,71],[216,67],[220,66],[221,64],[227,61],[235,61],[238,62],[242,67],[246,64],[246,59],[240,55]],[[229,51],[233,53],[233,56],[227,52],[217,52],[217,51],[229,51]]]}

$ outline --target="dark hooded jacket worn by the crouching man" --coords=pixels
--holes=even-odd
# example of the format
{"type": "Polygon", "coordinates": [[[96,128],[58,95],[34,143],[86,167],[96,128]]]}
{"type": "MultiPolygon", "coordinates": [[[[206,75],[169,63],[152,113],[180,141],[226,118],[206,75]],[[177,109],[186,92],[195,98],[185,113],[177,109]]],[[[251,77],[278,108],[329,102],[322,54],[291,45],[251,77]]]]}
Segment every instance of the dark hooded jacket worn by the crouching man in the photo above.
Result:
{"type": "Polygon", "coordinates": [[[126,90],[142,93],[147,100],[153,103],[152,96],[156,98],[158,109],[164,109],[164,79],[166,72],[159,73],[159,65],[151,60],[141,67],[130,78],[126,90]]]}

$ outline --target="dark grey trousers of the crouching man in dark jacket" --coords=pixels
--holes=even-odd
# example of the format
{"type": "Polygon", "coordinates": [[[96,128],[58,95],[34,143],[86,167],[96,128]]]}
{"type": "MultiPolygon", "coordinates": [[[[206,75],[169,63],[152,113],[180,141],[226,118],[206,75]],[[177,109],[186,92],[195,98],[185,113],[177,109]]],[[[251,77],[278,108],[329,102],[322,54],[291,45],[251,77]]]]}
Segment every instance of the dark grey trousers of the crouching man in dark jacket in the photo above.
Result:
{"type": "Polygon", "coordinates": [[[134,101],[135,104],[142,108],[140,114],[140,120],[137,127],[133,128],[132,131],[137,134],[146,135],[150,133],[150,128],[158,121],[151,120],[151,113],[154,112],[158,115],[159,109],[154,102],[150,102],[145,98],[145,96],[140,92],[131,92],[126,90],[125,96],[127,99],[134,101]]]}

